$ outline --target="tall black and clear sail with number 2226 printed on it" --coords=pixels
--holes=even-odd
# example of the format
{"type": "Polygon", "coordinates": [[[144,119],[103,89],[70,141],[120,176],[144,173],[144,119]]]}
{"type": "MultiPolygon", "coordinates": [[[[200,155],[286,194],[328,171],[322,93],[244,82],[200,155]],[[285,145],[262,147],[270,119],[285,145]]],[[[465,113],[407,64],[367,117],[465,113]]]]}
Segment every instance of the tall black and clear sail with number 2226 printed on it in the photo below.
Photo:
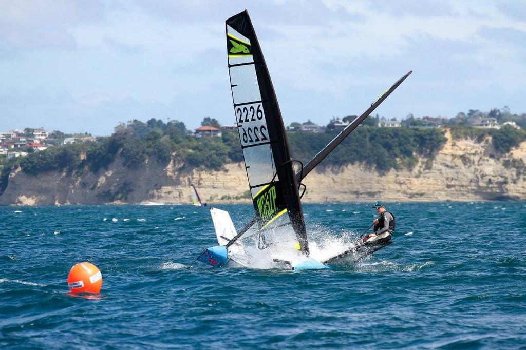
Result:
{"type": "Polygon", "coordinates": [[[226,35],[232,100],[259,230],[291,225],[300,250],[308,253],[285,126],[247,11],[226,20],[226,35]]]}

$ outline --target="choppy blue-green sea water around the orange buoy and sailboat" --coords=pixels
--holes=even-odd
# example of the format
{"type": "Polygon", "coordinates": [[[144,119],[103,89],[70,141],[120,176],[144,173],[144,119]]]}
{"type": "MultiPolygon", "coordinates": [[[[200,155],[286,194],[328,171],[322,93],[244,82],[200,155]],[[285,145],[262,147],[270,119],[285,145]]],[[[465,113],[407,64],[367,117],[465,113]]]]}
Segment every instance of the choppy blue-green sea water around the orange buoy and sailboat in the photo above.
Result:
{"type": "MultiPolygon", "coordinates": [[[[237,228],[252,212],[217,207],[237,228]]],[[[184,269],[215,244],[205,208],[2,207],[0,347],[526,348],[526,202],[388,209],[393,244],[294,272],[184,269]],[[82,261],[102,271],[98,298],[67,294],[82,261]]],[[[314,241],[361,233],[375,214],[370,203],[304,211],[314,241]]]]}

